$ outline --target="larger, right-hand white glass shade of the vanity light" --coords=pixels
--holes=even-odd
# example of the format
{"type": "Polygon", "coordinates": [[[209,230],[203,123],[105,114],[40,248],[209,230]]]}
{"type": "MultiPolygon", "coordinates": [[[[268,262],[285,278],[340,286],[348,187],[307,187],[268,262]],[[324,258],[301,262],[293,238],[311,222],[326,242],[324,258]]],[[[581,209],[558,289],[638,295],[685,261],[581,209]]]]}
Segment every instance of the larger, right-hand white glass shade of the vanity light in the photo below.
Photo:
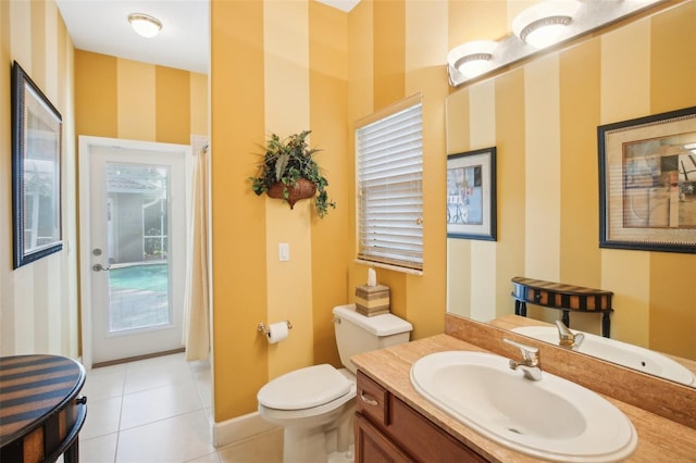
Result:
{"type": "Polygon", "coordinates": [[[570,36],[570,24],[580,7],[580,2],[575,0],[547,0],[537,3],[512,20],[512,32],[534,48],[549,47],[570,36]]]}

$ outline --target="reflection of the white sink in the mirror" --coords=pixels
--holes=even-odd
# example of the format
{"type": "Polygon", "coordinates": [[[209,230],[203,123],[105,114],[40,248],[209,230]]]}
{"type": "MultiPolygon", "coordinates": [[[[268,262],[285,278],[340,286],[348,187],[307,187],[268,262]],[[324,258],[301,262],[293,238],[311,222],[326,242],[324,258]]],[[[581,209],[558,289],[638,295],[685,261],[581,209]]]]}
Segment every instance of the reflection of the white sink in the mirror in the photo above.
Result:
{"type": "MultiPolygon", "coordinates": [[[[512,330],[540,341],[558,345],[558,329],[555,326],[521,326],[512,330]]],[[[696,383],[692,372],[658,352],[589,333],[583,334],[585,339],[579,347],[573,348],[575,352],[585,353],[684,385],[694,385],[696,383]]]]}

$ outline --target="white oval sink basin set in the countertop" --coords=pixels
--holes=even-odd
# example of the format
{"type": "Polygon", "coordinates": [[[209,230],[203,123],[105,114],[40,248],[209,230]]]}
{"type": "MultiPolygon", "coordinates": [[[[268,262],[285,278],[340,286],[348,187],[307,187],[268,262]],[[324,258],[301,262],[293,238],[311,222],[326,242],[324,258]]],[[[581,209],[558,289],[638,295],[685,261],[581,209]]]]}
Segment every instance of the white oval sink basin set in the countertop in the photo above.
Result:
{"type": "Polygon", "coordinates": [[[411,384],[475,431],[536,458],[613,462],[637,445],[629,418],[597,393],[546,372],[538,381],[526,379],[499,355],[425,355],[413,363],[411,384]]]}

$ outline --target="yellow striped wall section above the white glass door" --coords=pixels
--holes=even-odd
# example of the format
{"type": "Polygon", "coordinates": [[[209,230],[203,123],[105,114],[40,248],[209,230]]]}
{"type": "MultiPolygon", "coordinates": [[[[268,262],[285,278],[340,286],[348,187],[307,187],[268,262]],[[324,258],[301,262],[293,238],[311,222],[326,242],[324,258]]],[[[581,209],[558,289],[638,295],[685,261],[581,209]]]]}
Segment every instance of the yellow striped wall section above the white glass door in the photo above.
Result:
{"type": "Polygon", "coordinates": [[[208,77],[75,50],[77,135],[190,145],[208,135],[208,77]]]}

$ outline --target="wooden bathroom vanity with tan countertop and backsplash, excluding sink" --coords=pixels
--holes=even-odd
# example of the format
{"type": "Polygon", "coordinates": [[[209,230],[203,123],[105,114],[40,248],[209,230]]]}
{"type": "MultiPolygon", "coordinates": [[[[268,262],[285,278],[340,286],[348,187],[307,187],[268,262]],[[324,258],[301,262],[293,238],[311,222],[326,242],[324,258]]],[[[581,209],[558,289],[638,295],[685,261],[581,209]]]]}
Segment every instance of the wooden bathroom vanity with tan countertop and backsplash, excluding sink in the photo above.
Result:
{"type": "Polygon", "coordinates": [[[636,373],[625,368],[583,355],[568,362],[563,355],[573,355],[572,352],[535,343],[532,339],[517,337],[496,327],[449,314],[446,316],[446,334],[366,352],[352,359],[359,368],[356,462],[538,461],[474,431],[419,395],[410,381],[412,364],[434,352],[493,351],[514,358],[515,351],[507,350],[501,341],[504,336],[538,346],[545,371],[576,383],[582,383],[576,375],[586,376],[583,386],[601,395],[629,417],[637,431],[638,443],[635,452],[625,461],[693,461],[696,442],[696,399],[693,388],[657,378],[647,378],[645,380],[648,384],[641,384],[642,376],[646,375],[636,376],[636,373]],[[600,377],[606,378],[606,383],[601,383],[600,377]],[[625,381],[631,380],[637,381],[635,387],[643,391],[626,386],[625,381]],[[589,387],[591,384],[597,387],[589,387]],[[607,393],[614,390],[616,393],[607,393]],[[666,396],[672,399],[664,399],[666,396]],[[632,400],[633,403],[627,403],[632,400]]]}

